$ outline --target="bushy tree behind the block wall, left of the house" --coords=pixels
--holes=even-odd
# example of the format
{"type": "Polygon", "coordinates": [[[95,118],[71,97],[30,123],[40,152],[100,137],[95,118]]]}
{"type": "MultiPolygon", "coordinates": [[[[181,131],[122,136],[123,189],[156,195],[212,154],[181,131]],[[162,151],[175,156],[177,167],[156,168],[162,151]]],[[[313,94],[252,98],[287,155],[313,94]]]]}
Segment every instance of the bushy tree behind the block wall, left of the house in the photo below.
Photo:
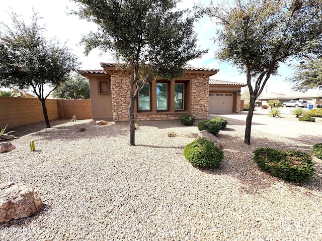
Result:
{"type": "Polygon", "coordinates": [[[89,99],[90,84],[81,74],[75,73],[66,82],[59,84],[52,95],[62,99],[89,99]]]}

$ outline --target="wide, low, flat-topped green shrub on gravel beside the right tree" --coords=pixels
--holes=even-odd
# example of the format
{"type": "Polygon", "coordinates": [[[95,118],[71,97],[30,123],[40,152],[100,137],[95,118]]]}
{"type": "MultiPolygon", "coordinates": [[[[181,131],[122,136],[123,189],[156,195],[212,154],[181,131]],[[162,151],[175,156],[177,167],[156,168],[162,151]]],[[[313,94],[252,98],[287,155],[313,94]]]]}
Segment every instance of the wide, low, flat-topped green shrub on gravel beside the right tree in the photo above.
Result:
{"type": "Polygon", "coordinates": [[[311,156],[304,152],[258,148],[254,161],[263,171],[286,181],[310,181],[314,174],[311,156]]]}

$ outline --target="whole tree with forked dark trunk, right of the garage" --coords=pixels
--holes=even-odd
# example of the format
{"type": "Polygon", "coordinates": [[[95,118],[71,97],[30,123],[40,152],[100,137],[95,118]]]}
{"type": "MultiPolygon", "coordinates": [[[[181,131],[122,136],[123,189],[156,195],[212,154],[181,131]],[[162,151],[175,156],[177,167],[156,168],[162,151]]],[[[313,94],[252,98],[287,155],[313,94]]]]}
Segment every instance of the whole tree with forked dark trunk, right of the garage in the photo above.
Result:
{"type": "Polygon", "coordinates": [[[220,28],[216,57],[246,73],[250,90],[245,143],[251,143],[256,98],[280,63],[321,50],[321,0],[233,0],[199,6],[220,28]]]}

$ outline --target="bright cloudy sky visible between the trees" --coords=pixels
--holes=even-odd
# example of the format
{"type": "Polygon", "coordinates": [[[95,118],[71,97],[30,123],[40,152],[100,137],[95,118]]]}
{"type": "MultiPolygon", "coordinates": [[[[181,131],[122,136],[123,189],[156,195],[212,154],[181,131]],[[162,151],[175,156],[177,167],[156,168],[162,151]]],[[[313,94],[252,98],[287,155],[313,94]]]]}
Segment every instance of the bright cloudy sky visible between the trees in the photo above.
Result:
{"type": "MultiPolygon", "coordinates": [[[[199,2],[195,1],[195,3],[199,2]]],[[[210,0],[203,0],[202,3],[208,5],[210,0]]],[[[183,0],[178,7],[192,8],[193,5],[193,1],[183,0]]],[[[61,43],[66,43],[71,52],[82,62],[80,69],[101,69],[100,62],[115,62],[110,53],[101,53],[99,50],[93,50],[88,56],[84,55],[84,46],[79,45],[79,42],[83,35],[87,35],[90,31],[96,32],[97,27],[94,23],[80,20],[78,16],[67,15],[70,9],[77,9],[69,0],[0,0],[0,6],[0,22],[9,26],[11,12],[20,15],[21,19],[29,24],[34,9],[38,16],[42,17],[38,25],[45,27],[46,31],[43,35],[48,39],[57,38],[61,43]]],[[[188,64],[193,67],[219,69],[216,75],[210,77],[211,79],[246,83],[246,74],[239,73],[238,69],[229,63],[215,59],[214,52],[217,46],[212,40],[215,36],[215,25],[208,17],[203,17],[195,24],[195,32],[200,48],[209,49],[209,51],[202,58],[192,60],[188,64]]],[[[290,92],[292,86],[285,79],[291,74],[291,67],[282,64],[278,75],[268,80],[263,92],[290,92]]]]}

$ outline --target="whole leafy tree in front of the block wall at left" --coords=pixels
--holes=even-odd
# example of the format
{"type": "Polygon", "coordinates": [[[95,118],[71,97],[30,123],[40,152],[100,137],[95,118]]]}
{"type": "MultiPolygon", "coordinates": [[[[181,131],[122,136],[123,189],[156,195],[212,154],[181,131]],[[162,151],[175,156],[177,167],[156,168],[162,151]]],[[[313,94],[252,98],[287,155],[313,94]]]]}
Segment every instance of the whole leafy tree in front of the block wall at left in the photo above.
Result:
{"type": "Polygon", "coordinates": [[[0,85],[32,87],[42,102],[46,127],[50,128],[45,100],[58,85],[68,80],[69,72],[78,66],[77,58],[57,40],[46,40],[44,28],[37,23],[36,13],[30,26],[12,13],[13,29],[1,23],[0,32],[0,85]],[[46,93],[44,86],[53,88],[46,93]]]}

